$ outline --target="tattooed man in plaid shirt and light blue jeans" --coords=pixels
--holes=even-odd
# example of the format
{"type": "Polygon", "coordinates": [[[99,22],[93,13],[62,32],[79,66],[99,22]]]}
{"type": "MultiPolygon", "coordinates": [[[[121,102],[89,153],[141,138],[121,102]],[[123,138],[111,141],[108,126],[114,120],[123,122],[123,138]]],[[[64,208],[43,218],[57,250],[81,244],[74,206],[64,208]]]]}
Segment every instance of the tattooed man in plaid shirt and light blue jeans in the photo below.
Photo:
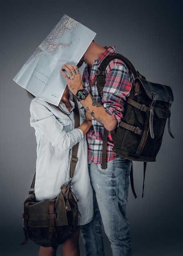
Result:
{"type": "Polygon", "coordinates": [[[101,219],[113,256],[131,254],[130,225],[126,218],[131,162],[112,151],[110,131],[123,118],[134,76],[123,61],[114,58],[106,68],[102,100],[96,82],[92,85],[101,61],[114,52],[114,47],[102,47],[92,42],[81,60],[86,63],[83,80],[75,65],[63,65],[68,75],[60,71],[71,92],[92,115],[93,126],[87,133],[87,141],[89,173],[94,188],[94,218],[82,228],[87,256],[104,256],[101,219]],[[108,130],[106,169],[101,168],[104,127],[108,130]]]}

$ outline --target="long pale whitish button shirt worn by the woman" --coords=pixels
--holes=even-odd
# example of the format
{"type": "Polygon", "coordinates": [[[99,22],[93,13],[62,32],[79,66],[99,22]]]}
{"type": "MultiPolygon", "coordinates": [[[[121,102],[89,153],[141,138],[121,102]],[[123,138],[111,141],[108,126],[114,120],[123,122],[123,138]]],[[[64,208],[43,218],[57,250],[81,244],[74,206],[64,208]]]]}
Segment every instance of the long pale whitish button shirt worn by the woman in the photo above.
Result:
{"type": "MultiPolygon", "coordinates": [[[[30,124],[37,141],[36,200],[51,200],[58,196],[60,186],[68,184],[72,146],[79,142],[78,162],[71,189],[79,199],[78,225],[85,225],[93,217],[93,193],[87,164],[87,141],[80,129],[74,128],[74,102],[69,112],[64,103],[60,107],[67,115],[49,103],[34,98],[30,105],[30,124]]],[[[85,109],[78,103],[80,124],[85,120],[85,109]]]]}

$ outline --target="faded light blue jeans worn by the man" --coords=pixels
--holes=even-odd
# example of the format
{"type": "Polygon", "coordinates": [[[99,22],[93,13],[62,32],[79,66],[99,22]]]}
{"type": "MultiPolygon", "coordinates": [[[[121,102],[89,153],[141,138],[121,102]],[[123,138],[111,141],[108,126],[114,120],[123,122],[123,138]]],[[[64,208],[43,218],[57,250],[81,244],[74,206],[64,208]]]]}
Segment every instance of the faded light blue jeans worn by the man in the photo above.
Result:
{"type": "Polygon", "coordinates": [[[81,229],[87,256],[104,256],[101,220],[112,248],[113,256],[130,256],[130,225],[126,218],[131,161],[118,157],[100,164],[89,164],[94,189],[94,217],[81,229]]]}

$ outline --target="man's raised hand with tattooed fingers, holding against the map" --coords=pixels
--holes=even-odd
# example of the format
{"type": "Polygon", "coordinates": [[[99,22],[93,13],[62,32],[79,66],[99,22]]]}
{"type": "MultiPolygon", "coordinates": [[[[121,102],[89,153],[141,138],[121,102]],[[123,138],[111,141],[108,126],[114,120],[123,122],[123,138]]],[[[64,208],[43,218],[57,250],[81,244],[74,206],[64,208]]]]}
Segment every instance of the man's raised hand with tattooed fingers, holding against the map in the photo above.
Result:
{"type": "Polygon", "coordinates": [[[60,73],[65,77],[69,90],[76,95],[77,90],[83,89],[82,77],[78,67],[69,64],[62,65],[62,67],[65,69],[68,75],[65,74],[63,70],[60,70],[60,73]]]}

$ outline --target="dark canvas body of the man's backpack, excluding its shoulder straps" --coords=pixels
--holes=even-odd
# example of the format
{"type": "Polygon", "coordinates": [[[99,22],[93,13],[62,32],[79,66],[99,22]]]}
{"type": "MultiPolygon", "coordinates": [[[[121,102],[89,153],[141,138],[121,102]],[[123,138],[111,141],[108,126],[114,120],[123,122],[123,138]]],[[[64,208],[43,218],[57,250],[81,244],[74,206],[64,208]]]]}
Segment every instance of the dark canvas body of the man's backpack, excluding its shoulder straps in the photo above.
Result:
{"type": "MultiPolygon", "coordinates": [[[[150,82],[148,82],[150,83],[150,82]]],[[[165,88],[168,90],[173,101],[173,94],[170,87],[156,83],[150,83],[156,94],[156,101],[150,116],[152,107],[152,93],[147,80],[136,78],[129,98],[140,105],[148,108],[147,112],[126,103],[123,114],[123,122],[141,130],[141,134],[128,130],[119,124],[112,133],[114,141],[114,152],[118,155],[141,162],[153,162],[161,147],[163,133],[167,118],[170,118],[170,101],[165,88]],[[150,132],[150,119],[154,137],[150,132]]],[[[143,107],[142,107],[143,108],[143,107]]]]}

